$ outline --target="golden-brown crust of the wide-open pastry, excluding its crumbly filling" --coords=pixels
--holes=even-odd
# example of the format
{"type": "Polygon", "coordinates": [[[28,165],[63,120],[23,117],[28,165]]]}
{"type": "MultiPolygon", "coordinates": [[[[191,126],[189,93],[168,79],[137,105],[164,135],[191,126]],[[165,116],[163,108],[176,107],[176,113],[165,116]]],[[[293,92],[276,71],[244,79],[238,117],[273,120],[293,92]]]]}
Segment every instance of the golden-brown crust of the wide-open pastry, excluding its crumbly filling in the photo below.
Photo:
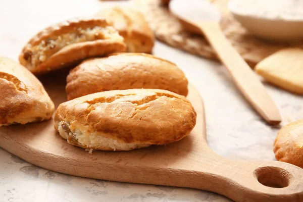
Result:
{"type": "Polygon", "coordinates": [[[19,61],[32,73],[40,74],[77,64],[81,60],[89,57],[125,51],[126,46],[123,38],[115,33],[112,38],[82,41],[65,45],[65,47],[57,53],[38,65],[32,64],[27,60],[31,54],[31,48],[38,45],[41,41],[47,41],[47,39],[59,37],[62,34],[72,33],[77,31],[77,29],[93,28],[95,26],[104,29],[113,29],[105,19],[72,19],[47,27],[28,41],[22,49],[19,61]]]}

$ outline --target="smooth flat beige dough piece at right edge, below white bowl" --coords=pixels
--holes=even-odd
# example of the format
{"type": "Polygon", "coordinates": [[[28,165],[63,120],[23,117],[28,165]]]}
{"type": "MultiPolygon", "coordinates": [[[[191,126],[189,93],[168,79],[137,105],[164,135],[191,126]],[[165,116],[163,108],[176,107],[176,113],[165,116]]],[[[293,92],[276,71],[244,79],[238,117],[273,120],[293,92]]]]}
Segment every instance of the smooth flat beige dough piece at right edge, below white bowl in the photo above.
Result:
{"type": "Polygon", "coordinates": [[[268,82],[303,94],[303,49],[282,49],[258,63],[255,70],[268,82]]]}

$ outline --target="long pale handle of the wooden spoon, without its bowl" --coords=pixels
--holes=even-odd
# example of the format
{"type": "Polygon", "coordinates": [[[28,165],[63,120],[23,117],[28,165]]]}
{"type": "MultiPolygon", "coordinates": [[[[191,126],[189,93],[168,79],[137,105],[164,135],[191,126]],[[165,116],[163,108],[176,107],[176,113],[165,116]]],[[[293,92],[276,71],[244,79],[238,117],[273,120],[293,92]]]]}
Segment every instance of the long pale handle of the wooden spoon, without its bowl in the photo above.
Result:
{"type": "Polygon", "coordinates": [[[266,92],[262,82],[227,40],[219,23],[203,22],[197,26],[216,50],[221,62],[228,69],[235,84],[248,102],[268,123],[281,122],[279,110],[266,92]]]}

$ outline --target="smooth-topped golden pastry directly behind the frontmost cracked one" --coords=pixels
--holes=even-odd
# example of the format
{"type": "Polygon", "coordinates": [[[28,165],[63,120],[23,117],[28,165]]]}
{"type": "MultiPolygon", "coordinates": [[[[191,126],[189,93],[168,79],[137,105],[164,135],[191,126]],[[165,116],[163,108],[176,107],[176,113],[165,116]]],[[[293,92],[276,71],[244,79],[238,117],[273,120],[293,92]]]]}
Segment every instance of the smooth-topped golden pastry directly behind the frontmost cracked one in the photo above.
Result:
{"type": "Polygon", "coordinates": [[[130,88],[165,89],[186,96],[188,81],[174,63],[148,54],[121,53],[83,61],[67,76],[67,99],[130,88]]]}

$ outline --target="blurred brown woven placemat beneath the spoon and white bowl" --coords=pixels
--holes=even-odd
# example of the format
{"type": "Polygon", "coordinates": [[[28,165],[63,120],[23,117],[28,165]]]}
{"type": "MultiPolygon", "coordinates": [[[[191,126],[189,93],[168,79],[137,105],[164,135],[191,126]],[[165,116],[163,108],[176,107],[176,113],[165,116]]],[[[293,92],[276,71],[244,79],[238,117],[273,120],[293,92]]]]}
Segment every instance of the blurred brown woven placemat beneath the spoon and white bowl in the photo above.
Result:
{"type": "MultiPolygon", "coordinates": [[[[167,7],[161,5],[160,0],[133,0],[145,14],[151,28],[155,31],[158,40],[183,51],[202,57],[218,60],[214,49],[203,36],[185,31],[178,19],[167,7]]],[[[186,1],[186,0],[184,0],[186,1]]],[[[221,12],[221,28],[233,46],[244,60],[254,67],[267,56],[284,47],[302,47],[303,41],[291,43],[273,43],[258,39],[250,35],[238,22],[233,19],[227,9],[228,0],[211,1],[221,12]]]]}

